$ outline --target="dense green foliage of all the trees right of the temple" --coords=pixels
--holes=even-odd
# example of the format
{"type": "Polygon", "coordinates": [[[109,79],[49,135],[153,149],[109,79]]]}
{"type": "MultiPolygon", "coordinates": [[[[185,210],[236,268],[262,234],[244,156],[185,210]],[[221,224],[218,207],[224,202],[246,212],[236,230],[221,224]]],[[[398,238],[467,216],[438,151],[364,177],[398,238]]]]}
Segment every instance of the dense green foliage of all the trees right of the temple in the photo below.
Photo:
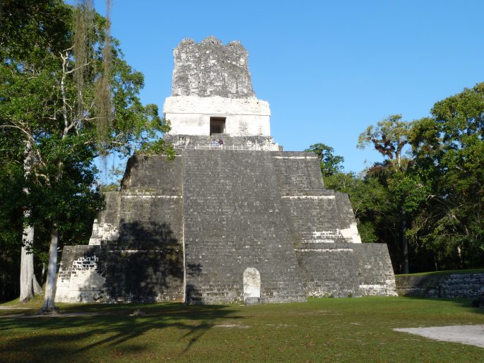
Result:
{"type": "Polygon", "coordinates": [[[368,144],[384,161],[365,177],[325,178],[350,194],[362,240],[386,242],[397,271],[405,239],[412,270],[482,267],[484,83],[437,102],[430,117],[406,123],[395,115],[369,126],[358,147],[368,144]]]}

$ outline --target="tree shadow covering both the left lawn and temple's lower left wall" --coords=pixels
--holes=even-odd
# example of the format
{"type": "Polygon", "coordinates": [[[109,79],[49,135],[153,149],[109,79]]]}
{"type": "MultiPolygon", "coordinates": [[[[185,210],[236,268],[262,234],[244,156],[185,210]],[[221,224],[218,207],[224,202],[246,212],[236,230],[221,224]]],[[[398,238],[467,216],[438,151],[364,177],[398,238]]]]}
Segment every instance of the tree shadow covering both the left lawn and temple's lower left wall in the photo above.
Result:
{"type": "MultiPolygon", "coordinates": [[[[85,362],[134,355],[129,360],[163,361],[163,355],[190,350],[220,319],[241,319],[236,309],[222,305],[143,304],[183,296],[182,246],[169,224],[124,223],[119,240],[104,247],[105,270],[97,273],[106,276],[107,296],[141,302],[58,304],[60,316],[4,316],[0,360],[85,362]],[[141,314],[134,316],[137,310],[141,314]]],[[[201,267],[188,266],[188,273],[198,275],[201,267]]]]}

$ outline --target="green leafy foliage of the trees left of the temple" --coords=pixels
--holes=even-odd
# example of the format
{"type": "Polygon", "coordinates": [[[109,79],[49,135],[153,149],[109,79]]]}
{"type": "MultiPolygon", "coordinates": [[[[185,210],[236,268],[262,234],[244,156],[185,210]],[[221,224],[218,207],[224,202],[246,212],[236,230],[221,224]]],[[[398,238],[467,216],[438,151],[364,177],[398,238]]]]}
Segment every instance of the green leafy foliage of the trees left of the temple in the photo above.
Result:
{"type": "Polygon", "coordinates": [[[160,140],[169,124],[158,107],[139,100],[143,75],[123,59],[109,21],[91,3],[82,1],[81,10],[61,0],[2,3],[0,198],[8,203],[0,205],[0,225],[8,227],[0,230],[1,249],[20,245],[25,223],[35,226],[38,256],[45,255],[53,226],[60,246],[87,242],[103,203],[94,187],[95,157],[173,153],[160,140]],[[80,19],[83,28],[73,28],[80,19]],[[102,105],[100,80],[108,92],[102,105]],[[109,123],[102,121],[107,104],[109,123]],[[107,125],[101,148],[100,124],[107,125]],[[24,169],[26,155],[33,162],[24,169]],[[24,210],[29,220],[22,219],[24,210]]]}

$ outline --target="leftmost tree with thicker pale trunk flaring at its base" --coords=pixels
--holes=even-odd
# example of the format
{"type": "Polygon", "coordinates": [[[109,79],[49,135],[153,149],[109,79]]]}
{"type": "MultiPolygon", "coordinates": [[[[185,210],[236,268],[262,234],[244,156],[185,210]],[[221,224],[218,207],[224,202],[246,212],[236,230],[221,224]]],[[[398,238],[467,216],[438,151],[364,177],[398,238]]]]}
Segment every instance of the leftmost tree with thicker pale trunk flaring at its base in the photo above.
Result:
{"type": "MultiPolygon", "coordinates": [[[[27,197],[33,179],[33,162],[36,160],[35,139],[29,137],[41,112],[39,105],[47,101],[45,94],[52,91],[40,72],[49,52],[64,47],[66,11],[52,1],[4,1],[0,23],[1,128],[8,138],[23,145],[23,191],[27,197]],[[63,11],[64,10],[64,11],[63,11]],[[59,11],[53,16],[54,11],[59,11]],[[49,34],[49,37],[45,37],[49,34]],[[50,49],[47,51],[47,49],[50,49]],[[18,97],[12,97],[18,95],[18,97]]],[[[44,67],[45,68],[45,67],[44,67]]],[[[23,206],[23,246],[20,270],[20,300],[25,302],[39,292],[33,273],[33,241],[35,238],[28,198],[23,206]]]]}

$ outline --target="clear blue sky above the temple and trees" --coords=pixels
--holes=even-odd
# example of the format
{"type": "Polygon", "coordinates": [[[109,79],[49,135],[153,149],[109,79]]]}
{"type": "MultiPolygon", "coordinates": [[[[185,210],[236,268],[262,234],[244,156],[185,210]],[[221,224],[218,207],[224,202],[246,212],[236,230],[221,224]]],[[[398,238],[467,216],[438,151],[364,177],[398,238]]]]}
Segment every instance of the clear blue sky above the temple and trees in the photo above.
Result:
{"type": "MultiPolygon", "coordinates": [[[[95,6],[105,14],[104,1],[95,6]]],[[[285,150],[326,143],[360,172],[381,160],[356,148],[368,125],[424,117],[484,81],[483,14],[482,0],[113,0],[112,35],[145,75],[141,100],[160,110],[183,38],[240,40],[275,141],[285,150]]]]}

